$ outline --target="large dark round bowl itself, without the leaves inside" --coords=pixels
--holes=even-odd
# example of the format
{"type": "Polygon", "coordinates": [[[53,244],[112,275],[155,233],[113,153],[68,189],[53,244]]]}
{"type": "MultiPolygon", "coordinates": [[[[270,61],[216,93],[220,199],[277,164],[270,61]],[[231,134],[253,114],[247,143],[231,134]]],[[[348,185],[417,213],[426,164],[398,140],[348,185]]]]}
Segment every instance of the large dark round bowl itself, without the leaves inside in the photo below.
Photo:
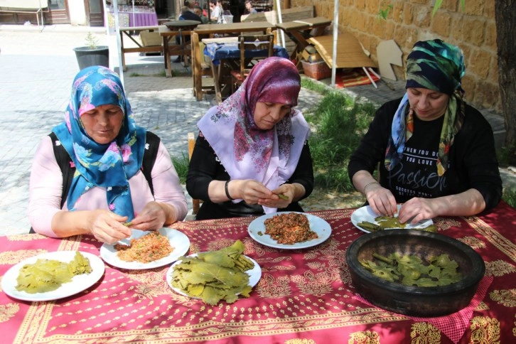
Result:
{"type": "Polygon", "coordinates": [[[471,247],[446,235],[421,230],[382,230],[350,244],[346,252],[353,286],[364,299],[380,308],[407,316],[444,316],[468,306],[475,295],[485,264],[471,247]],[[421,258],[448,254],[464,278],[447,286],[404,286],[374,276],[359,262],[372,260],[372,252],[392,252],[421,258]]]}

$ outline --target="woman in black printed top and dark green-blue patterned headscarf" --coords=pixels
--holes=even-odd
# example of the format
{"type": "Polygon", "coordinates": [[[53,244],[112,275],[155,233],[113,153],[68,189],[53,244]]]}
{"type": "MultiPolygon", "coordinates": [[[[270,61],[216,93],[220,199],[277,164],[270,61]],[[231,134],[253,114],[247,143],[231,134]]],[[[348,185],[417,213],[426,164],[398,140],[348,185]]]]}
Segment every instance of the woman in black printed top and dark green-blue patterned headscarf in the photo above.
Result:
{"type": "Polygon", "coordinates": [[[439,39],[407,57],[407,93],[375,114],[348,172],[372,210],[401,222],[468,216],[502,195],[493,130],[463,100],[463,53],[439,39]],[[372,172],[380,163],[380,183],[372,172]]]}

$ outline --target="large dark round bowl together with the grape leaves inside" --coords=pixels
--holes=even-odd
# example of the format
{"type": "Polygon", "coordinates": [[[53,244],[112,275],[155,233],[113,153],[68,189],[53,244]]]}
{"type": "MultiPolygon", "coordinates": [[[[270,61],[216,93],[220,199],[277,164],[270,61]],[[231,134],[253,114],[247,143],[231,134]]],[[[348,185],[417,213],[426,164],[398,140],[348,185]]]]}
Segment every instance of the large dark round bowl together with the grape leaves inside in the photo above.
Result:
{"type": "Polygon", "coordinates": [[[468,306],[485,273],[480,255],[446,235],[384,230],[346,252],[353,286],[380,308],[408,316],[444,316],[468,306]]]}

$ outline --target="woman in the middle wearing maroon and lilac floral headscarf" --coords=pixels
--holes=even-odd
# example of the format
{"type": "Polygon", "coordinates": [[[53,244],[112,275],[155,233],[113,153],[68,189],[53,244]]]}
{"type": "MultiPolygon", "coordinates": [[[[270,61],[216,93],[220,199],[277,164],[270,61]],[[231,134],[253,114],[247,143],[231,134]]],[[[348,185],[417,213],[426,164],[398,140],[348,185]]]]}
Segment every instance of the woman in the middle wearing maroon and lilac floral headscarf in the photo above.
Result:
{"type": "Polygon", "coordinates": [[[196,220],[303,211],[313,168],[310,127],[294,109],[299,90],[294,63],[267,58],[200,119],[186,179],[188,193],[204,201],[196,220]]]}

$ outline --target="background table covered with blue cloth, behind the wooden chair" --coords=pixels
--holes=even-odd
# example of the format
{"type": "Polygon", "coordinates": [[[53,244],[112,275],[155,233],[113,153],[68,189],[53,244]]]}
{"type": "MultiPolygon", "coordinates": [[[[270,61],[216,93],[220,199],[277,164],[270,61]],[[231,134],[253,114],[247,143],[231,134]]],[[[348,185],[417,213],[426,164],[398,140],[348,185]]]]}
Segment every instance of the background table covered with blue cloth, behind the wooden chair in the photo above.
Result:
{"type": "MultiPolygon", "coordinates": [[[[237,37],[227,37],[205,38],[202,40],[206,45],[204,54],[211,61],[215,97],[219,103],[222,102],[222,94],[227,94],[230,88],[230,82],[227,82],[224,77],[230,80],[231,75],[225,72],[225,70],[240,70],[240,47],[237,39],[237,37]]],[[[245,52],[246,58],[257,58],[260,56],[267,56],[267,53],[264,55],[264,50],[247,50],[245,52]]],[[[274,45],[274,56],[289,58],[289,53],[281,45],[274,45]]]]}

